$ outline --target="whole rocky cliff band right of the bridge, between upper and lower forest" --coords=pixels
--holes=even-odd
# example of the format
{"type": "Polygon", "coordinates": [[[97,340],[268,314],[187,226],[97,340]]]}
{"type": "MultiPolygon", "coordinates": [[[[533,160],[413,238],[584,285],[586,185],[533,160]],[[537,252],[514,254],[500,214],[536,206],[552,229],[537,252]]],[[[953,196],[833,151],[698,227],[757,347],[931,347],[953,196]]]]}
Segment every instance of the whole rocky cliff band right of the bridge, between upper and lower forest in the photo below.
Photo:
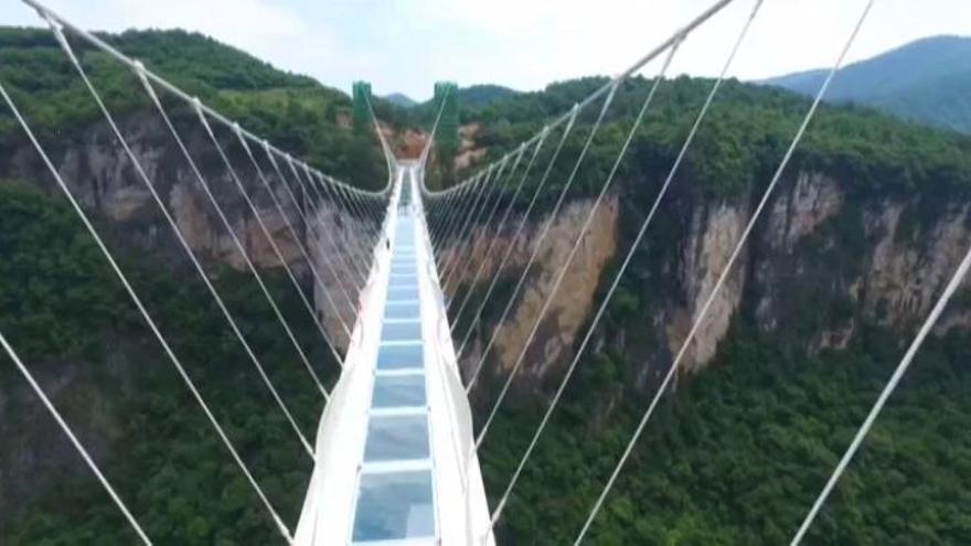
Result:
{"type": "MultiPolygon", "coordinates": [[[[555,376],[557,366],[573,356],[577,334],[587,326],[594,304],[612,280],[616,268],[611,265],[629,249],[632,236],[625,234],[636,232],[643,217],[639,206],[633,212],[631,207],[618,210],[618,200],[640,191],[638,184],[644,181],[622,184],[596,214],[526,352],[519,373],[521,385],[555,376]]],[[[712,301],[682,361],[683,370],[703,370],[739,318],[808,353],[845,347],[863,323],[887,326],[899,332],[901,340],[908,339],[971,245],[967,200],[957,190],[949,191],[957,193],[950,197],[930,192],[881,193],[863,190],[852,180],[809,171],[783,181],[712,301]]],[[[619,329],[598,332],[594,352],[609,347],[636,361],[641,384],[652,383],[659,371],[666,370],[728,263],[758,196],[751,191],[730,197],[672,193],[660,216],[675,227],[655,231],[653,238],[649,232],[644,243],[645,247],[670,248],[657,254],[661,263],[650,266],[663,280],[633,282],[634,289],[651,295],[648,303],[619,329]]],[[[538,253],[509,318],[498,325],[489,374],[504,376],[514,364],[590,206],[590,201],[575,201],[554,221],[551,242],[538,253]]],[[[516,242],[500,286],[517,280],[543,222],[531,222],[516,242]]],[[[511,244],[509,233],[481,235],[471,251],[473,260],[482,259],[491,239],[503,249],[511,244]]],[[[488,260],[482,278],[490,279],[495,267],[494,259],[488,260]]],[[[489,307],[488,326],[480,328],[473,350],[465,357],[467,373],[478,363],[489,326],[499,319],[509,292],[511,288],[500,290],[500,304],[489,307]]],[[[957,302],[939,331],[969,326],[969,313],[957,302]]]]}

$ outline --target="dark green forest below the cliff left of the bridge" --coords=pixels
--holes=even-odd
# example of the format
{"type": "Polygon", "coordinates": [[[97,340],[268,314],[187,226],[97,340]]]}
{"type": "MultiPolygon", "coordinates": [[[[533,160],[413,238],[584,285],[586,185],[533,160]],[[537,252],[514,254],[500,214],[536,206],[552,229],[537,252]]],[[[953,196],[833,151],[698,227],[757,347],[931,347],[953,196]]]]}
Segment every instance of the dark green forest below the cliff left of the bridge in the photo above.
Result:
{"type": "MultiPolygon", "coordinates": [[[[98,227],[111,234],[110,226],[98,227]]],[[[115,249],[126,247],[122,234],[108,239],[115,249]]],[[[0,330],[42,384],[51,388],[68,382],[63,394],[54,388],[55,403],[68,420],[77,425],[84,415],[99,416],[97,428],[78,431],[89,449],[100,454],[106,445],[124,446],[100,458],[149,536],[163,544],[277,540],[259,500],[66,203],[23,183],[0,182],[0,330]]],[[[239,365],[246,355],[202,282],[173,275],[168,264],[135,250],[121,253],[120,263],[271,502],[295,522],[311,461],[256,371],[239,365]]],[[[310,435],[323,400],[296,363],[265,298],[234,270],[221,271],[216,283],[310,435]]],[[[312,361],[320,363],[321,373],[333,375],[337,366],[289,282],[276,274],[269,286],[302,346],[311,349],[312,361]]],[[[0,357],[0,399],[23,385],[6,354],[0,357]]],[[[21,458],[34,457],[24,450],[38,445],[42,431],[57,436],[40,442],[43,449],[36,457],[52,457],[47,449],[72,449],[32,395],[4,407],[9,435],[0,450],[2,468],[15,469],[21,458]]],[[[0,543],[100,545],[135,539],[76,461],[76,470],[54,465],[31,477],[33,486],[46,493],[12,506],[0,518],[0,543]]]]}

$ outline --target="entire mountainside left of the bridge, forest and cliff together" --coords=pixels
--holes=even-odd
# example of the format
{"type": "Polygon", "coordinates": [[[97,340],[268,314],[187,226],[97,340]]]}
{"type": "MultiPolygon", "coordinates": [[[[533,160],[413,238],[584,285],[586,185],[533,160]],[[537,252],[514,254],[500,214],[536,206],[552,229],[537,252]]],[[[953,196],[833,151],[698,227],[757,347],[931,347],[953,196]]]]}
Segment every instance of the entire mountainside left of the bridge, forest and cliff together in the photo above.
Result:
{"type": "MultiPolygon", "coordinates": [[[[310,459],[49,33],[8,29],[0,36],[0,81],[243,459],[292,524],[310,459]]],[[[350,99],[343,94],[200,35],[103,38],[295,156],[351,183],[386,182],[373,133],[355,135],[348,125],[350,99]]],[[[83,43],[73,45],[244,336],[312,438],[323,400],[168,129],[134,76],[83,43]]],[[[301,345],[332,384],[337,365],[214,147],[192,111],[172,97],[163,100],[301,345]]],[[[284,259],[312,293],[307,265],[254,168],[233,135],[214,128],[284,259]]],[[[275,174],[269,179],[279,183],[275,174]]],[[[296,217],[286,201],[285,214],[296,217]]],[[[324,206],[318,214],[334,216],[335,211],[324,206]]],[[[326,222],[339,240],[354,244],[360,236],[360,218],[326,222]]],[[[295,228],[305,242],[312,240],[306,225],[295,228]]],[[[326,242],[308,246],[333,250],[326,242]]],[[[259,500],[6,107],[0,108],[0,329],[149,536],[161,544],[274,544],[279,535],[259,500]]],[[[331,288],[345,280],[323,278],[331,288]]],[[[335,313],[322,314],[328,324],[335,320],[335,313]]],[[[6,355],[0,358],[0,544],[102,545],[135,538],[6,355]]]]}

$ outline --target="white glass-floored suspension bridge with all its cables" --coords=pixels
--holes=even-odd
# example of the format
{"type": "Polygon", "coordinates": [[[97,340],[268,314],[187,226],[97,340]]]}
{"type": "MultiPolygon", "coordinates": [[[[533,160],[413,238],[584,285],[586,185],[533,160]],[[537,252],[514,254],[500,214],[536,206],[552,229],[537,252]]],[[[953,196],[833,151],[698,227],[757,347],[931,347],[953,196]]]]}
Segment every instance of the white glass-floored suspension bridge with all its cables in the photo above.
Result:
{"type": "MultiPolygon", "coordinates": [[[[115,259],[111,249],[104,242],[95,222],[72,194],[70,181],[64,180],[50,156],[51,144],[43,143],[33,132],[31,120],[19,108],[8,92],[8,84],[0,82],[0,95],[6,107],[15,118],[25,138],[42,159],[58,189],[70,201],[74,212],[83,221],[88,234],[97,243],[114,275],[124,285],[128,297],[137,307],[139,314],[159,342],[166,358],[174,366],[182,383],[192,394],[215,435],[233,461],[256,492],[266,517],[279,531],[281,542],[295,545],[331,544],[373,544],[373,545],[491,545],[495,544],[493,528],[501,521],[509,500],[516,493],[516,484],[538,440],[544,433],[551,416],[555,413],[564,392],[574,376],[580,357],[587,350],[597,324],[608,303],[615,296],[621,277],[627,271],[634,249],[642,242],[651,225],[658,207],[676,181],[679,169],[691,150],[695,136],[705,122],[711,105],[717,99],[726,74],[729,73],[736,54],[745,42],[750,26],[757,21],[762,0],[748,2],[750,11],[744,24],[736,30],[729,44],[713,47],[715,55],[722,56],[722,69],[713,79],[703,106],[693,114],[694,124],[680,147],[668,175],[660,186],[653,205],[637,232],[630,251],[623,257],[620,267],[608,279],[607,291],[596,306],[589,323],[585,326],[574,356],[559,378],[547,409],[536,424],[531,441],[523,453],[508,485],[502,491],[491,491],[487,495],[479,468],[478,451],[490,431],[500,407],[506,399],[510,388],[530,358],[530,346],[548,313],[556,291],[584,245],[597,210],[604,206],[621,162],[629,151],[636,132],[650,115],[655,92],[664,85],[672,60],[681,46],[691,40],[693,32],[717,17],[727,6],[743,3],[744,0],[719,0],[685,22],[669,36],[658,40],[658,45],[643,54],[616,77],[593,94],[576,103],[572,108],[548,122],[534,136],[519,147],[509,150],[493,162],[480,165],[466,180],[444,190],[433,191],[426,184],[426,165],[434,152],[434,137],[429,138],[417,160],[395,158],[385,140],[381,125],[370,109],[375,128],[375,140],[380,142],[387,163],[388,182],[381,191],[364,191],[354,185],[335,180],[312,165],[278,149],[258,135],[241,127],[198,98],[185,93],[171,82],[135,58],[117,51],[98,35],[73,24],[70,19],[53,12],[35,0],[23,0],[34,9],[41,20],[51,29],[57,43],[70,61],[71,66],[82,78],[92,99],[98,106],[111,133],[122,147],[138,178],[143,182],[171,225],[181,247],[190,258],[200,279],[224,315],[227,328],[235,340],[244,347],[249,365],[253,365],[271,393],[276,410],[286,416],[290,432],[295,435],[307,456],[313,461],[313,471],[307,484],[306,500],[297,522],[288,522],[280,515],[260,483],[266,477],[254,474],[246,460],[239,454],[234,438],[210,409],[205,395],[193,382],[178,352],[154,317],[142,303],[142,299],[128,280],[128,275],[115,259]],[[109,55],[120,66],[131,71],[140,89],[164,122],[171,136],[171,146],[179,150],[191,169],[196,182],[216,211],[221,223],[231,235],[236,250],[243,256],[245,269],[254,277],[267,299],[289,343],[294,346],[294,358],[306,370],[307,381],[314,386],[327,405],[319,419],[316,437],[301,431],[284,396],[279,394],[266,373],[264,363],[254,351],[246,335],[237,325],[237,319],[223,303],[216,287],[209,280],[200,261],[198,251],[181,234],[175,218],[168,212],[164,200],[156,192],[151,173],[141,167],[138,153],[130,147],[126,135],[119,128],[117,118],[103,99],[103,93],[88,77],[87,69],[76,54],[74,45],[81,41],[87,47],[95,47],[109,55]],[[570,250],[556,271],[552,293],[542,302],[537,318],[529,331],[525,342],[505,372],[495,399],[490,400],[489,410],[476,422],[469,403],[469,394],[482,381],[490,352],[494,351],[498,326],[486,335],[482,347],[471,351],[476,332],[482,329],[483,313],[488,303],[497,303],[503,309],[498,323],[502,323],[513,310],[516,297],[521,293],[531,266],[538,249],[549,236],[552,222],[545,222],[535,240],[527,248],[531,253],[526,267],[517,278],[511,295],[500,295],[497,282],[504,270],[516,244],[522,244],[524,226],[537,215],[541,199],[553,195],[551,218],[563,214],[564,204],[570,189],[576,183],[580,165],[587,159],[597,131],[605,118],[611,115],[611,106],[621,86],[636,74],[651,67],[654,71],[648,93],[640,97],[641,106],[629,120],[629,130],[623,144],[616,151],[616,158],[608,175],[601,181],[587,181],[596,184],[596,200],[584,218],[570,250]],[[288,319],[278,308],[273,295],[265,286],[260,269],[247,254],[247,246],[236,226],[223,211],[223,203],[216,192],[211,191],[210,180],[190,153],[185,136],[170,118],[172,101],[188,106],[198,118],[199,126],[218,151],[221,161],[235,182],[239,194],[245,199],[247,211],[256,220],[259,231],[266,237],[273,251],[286,269],[294,289],[299,293],[306,311],[314,320],[318,333],[327,343],[341,370],[334,385],[328,386],[320,378],[318,363],[305,351],[292,332],[288,319]],[[568,138],[583,131],[583,146],[573,157],[567,157],[568,138]],[[228,137],[227,137],[228,135],[228,137]],[[226,153],[227,141],[233,141],[245,151],[245,161],[257,173],[262,191],[270,200],[270,207],[286,222],[287,236],[299,247],[301,260],[306,263],[312,277],[313,290],[306,293],[298,274],[287,265],[284,251],[277,243],[278,235],[260,220],[257,204],[250,200],[239,165],[234,164],[226,153]],[[551,181],[553,165],[557,161],[572,165],[566,180],[551,181]],[[526,184],[527,179],[538,180],[526,184]],[[515,203],[527,203],[525,208],[515,210],[515,203]],[[321,211],[330,207],[338,211],[342,222],[355,226],[360,237],[356,240],[335,236],[330,216],[321,211]],[[297,226],[307,226],[307,235],[301,237],[297,226]],[[498,238],[489,238],[489,233],[508,234],[506,244],[497,244],[498,238]],[[492,274],[487,275],[487,264],[492,274]],[[480,299],[472,297],[472,290],[458,291],[460,279],[471,279],[480,299]],[[494,301],[499,299],[499,301],[494,301]],[[461,324],[461,325],[460,325],[461,324]],[[472,365],[465,376],[459,362],[471,358],[472,365]]],[[[768,1],[768,0],[767,0],[768,1]]],[[[802,122],[791,135],[785,154],[779,158],[772,176],[765,181],[760,200],[757,202],[749,223],[734,243],[734,251],[711,287],[704,303],[692,318],[680,349],[664,368],[660,387],[644,410],[637,428],[626,443],[626,449],[617,459],[613,471],[604,482],[596,502],[589,506],[587,517],[577,522],[575,544],[587,537],[590,525],[596,521],[605,501],[609,497],[617,480],[622,479],[627,464],[638,440],[649,427],[650,420],[662,396],[670,390],[685,353],[723,289],[743,251],[756,223],[762,216],[766,204],[772,196],[783,172],[792,159],[794,150],[815,115],[820,101],[833,77],[843,64],[857,32],[865,23],[874,0],[861,3],[854,14],[855,25],[843,38],[839,54],[833,58],[828,77],[820,87],[808,109],[802,114],[802,122]]],[[[355,89],[355,95],[358,90],[355,89]]],[[[447,100],[447,97],[446,97],[447,100]]],[[[445,103],[439,105],[444,108],[445,103]]],[[[441,110],[431,135],[435,135],[441,110]]],[[[812,526],[819,511],[852,461],[864,441],[869,428],[879,416],[887,399],[906,373],[915,354],[931,332],[950,298],[964,279],[971,267],[971,249],[954,269],[950,281],[943,288],[933,309],[926,317],[919,332],[911,340],[906,354],[874,403],[857,433],[846,447],[843,458],[833,469],[830,480],[820,491],[815,502],[808,507],[802,524],[792,529],[791,544],[800,544],[812,526]]],[[[488,333],[488,332],[487,332],[488,333]]],[[[143,544],[152,544],[140,526],[137,513],[129,511],[126,500],[113,488],[89,456],[85,446],[72,431],[67,420],[58,413],[46,393],[34,379],[30,363],[23,362],[17,352],[18,340],[9,340],[0,333],[0,344],[12,358],[24,379],[54,416],[63,432],[72,441],[79,456],[110,495],[134,529],[135,536],[143,544]]],[[[190,408],[186,408],[189,410],[190,408]]]]}

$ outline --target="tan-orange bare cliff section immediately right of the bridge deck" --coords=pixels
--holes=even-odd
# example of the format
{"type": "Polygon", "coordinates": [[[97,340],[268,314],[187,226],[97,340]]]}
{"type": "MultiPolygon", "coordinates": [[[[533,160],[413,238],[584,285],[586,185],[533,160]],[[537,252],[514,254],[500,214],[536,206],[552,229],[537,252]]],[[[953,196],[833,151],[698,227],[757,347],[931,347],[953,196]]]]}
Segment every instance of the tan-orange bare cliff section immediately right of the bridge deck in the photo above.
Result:
{"type": "MultiPolygon", "coordinates": [[[[498,299],[505,306],[505,301],[512,296],[514,285],[533,254],[534,265],[530,269],[527,280],[519,291],[515,306],[512,308],[504,322],[498,325],[494,346],[490,351],[497,355],[497,370],[493,373],[508,373],[522,352],[523,344],[533,331],[533,326],[543,311],[543,306],[553,292],[561,269],[566,264],[573,249],[574,242],[579,235],[580,228],[587,216],[593,211],[591,200],[567,203],[561,214],[552,218],[548,215],[543,220],[530,223],[519,238],[513,240],[515,228],[520,218],[512,218],[502,233],[493,233],[488,228],[479,228],[473,233],[470,240],[472,247],[467,254],[456,256],[466,267],[455,269],[455,278],[450,286],[468,285],[471,282],[478,268],[482,267],[480,281],[488,285],[497,274],[502,257],[510,245],[514,245],[510,251],[509,260],[502,271],[502,283],[510,285],[506,293],[497,290],[498,299]],[[542,233],[547,231],[545,237],[542,233]],[[538,245],[538,248],[537,248],[538,245]],[[490,251],[491,247],[491,251],[490,251]]],[[[522,377],[541,379],[548,367],[559,362],[564,351],[573,345],[574,339],[580,325],[587,319],[594,306],[597,287],[600,282],[600,274],[610,258],[616,253],[617,235],[615,233],[618,221],[618,204],[616,196],[609,196],[594,211],[590,228],[584,235],[577,248],[572,265],[566,269],[555,297],[544,313],[544,318],[536,330],[535,341],[531,343],[530,351],[523,357],[525,365],[522,377]]],[[[446,256],[450,256],[455,248],[447,248],[446,256]]],[[[450,258],[446,258],[448,260],[450,258]]],[[[498,286],[498,285],[497,285],[498,286]]],[[[454,295],[455,296],[455,295],[454,295]]],[[[465,295],[459,293],[462,298],[465,295]]],[[[471,317],[478,309],[478,301],[468,306],[467,313],[471,317]]],[[[500,310],[501,312],[501,310],[500,310]]],[[[486,318],[486,324],[491,326],[499,317],[486,318]],[[491,319],[491,320],[490,320],[491,319]]],[[[483,329],[489,331],[489,329],[483,329]]],[[[474,370],[479,357],[484,350],[488,339],[479,340],[462,361],[462,368],[467,375],[474,370]]]]}

